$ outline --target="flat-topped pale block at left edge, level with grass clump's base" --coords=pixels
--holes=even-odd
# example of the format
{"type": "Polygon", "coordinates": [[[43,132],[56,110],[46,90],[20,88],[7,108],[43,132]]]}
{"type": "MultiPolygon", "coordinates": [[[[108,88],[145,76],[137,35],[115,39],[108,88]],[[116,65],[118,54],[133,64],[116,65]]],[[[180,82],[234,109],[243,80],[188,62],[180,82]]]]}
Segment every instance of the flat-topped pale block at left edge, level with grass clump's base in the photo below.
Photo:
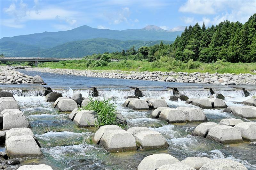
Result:
{"type": "Polygon", "coordinates": [[[29,127],[26,117],[18,109],[5,109],[1,114],[3,115],[3,130],[29,127]]]}

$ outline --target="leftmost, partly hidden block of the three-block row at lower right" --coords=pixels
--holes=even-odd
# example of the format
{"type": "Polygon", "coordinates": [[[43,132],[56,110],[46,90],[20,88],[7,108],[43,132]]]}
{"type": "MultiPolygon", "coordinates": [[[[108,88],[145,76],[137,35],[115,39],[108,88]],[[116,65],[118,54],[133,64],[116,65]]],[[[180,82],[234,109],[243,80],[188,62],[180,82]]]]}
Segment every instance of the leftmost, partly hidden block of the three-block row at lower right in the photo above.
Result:
{"type": "Polygon", "coordinates": [[[199,124],[196,129],[192,132],[192,135],[194,136],[201,136],[201,137],[206,137],[206,135],[208,134],[208,131],[210,129],[212,129],[215,126],[220,126],[217,123],[214,122],[205,122],[205,123],[201,123],[199,124]]]}

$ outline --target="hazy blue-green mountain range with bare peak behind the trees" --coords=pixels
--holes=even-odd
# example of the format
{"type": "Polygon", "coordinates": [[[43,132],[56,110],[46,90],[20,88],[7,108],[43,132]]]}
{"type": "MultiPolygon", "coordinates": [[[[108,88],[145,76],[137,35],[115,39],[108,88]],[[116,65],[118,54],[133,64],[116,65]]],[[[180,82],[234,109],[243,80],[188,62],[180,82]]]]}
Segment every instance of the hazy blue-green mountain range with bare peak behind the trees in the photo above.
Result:
{"type": "Polygon", "coordinates": [[[167,31],[158,26],[122,31],[80,26],[68,31],[44,32],[0,39],[0,54],[5,56],[83,57],[114,52],[135,46],[154,45],[159,40],[171,43],[182,31],[167,31]],[[145,41],[145,42],[144,42],[145,41]],[[41,56],[40,55],[40,56],[41,56]]]}

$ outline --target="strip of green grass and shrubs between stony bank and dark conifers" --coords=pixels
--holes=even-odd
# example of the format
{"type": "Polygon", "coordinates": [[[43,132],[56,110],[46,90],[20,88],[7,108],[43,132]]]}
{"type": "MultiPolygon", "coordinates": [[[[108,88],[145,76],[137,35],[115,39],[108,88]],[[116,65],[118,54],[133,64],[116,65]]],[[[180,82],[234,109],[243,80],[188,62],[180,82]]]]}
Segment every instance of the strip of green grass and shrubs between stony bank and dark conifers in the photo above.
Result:
{"type": "MultiPolygon", "coordinates": [[[[175,71],[175,72],[209,72],[209,73],[251,73],[256,70],[256,63],[229,63],[229,62],[216,62],[216,63],[196,63],[196,68],[188,66],[186,63],[181,63],[179,66],[177,63],[166,63],[161,66],[161,63],[150,63],[147,61],[133,61],[133,60],[123,60],[120,62],[111,62],[107,66],[95,66],[94,64],[89,64],[85,60],[82,61],[65,61],[58,63],[40,63],[39,67],[50,67],[55,68],[65,68],[65,69],[77,69],[77,70],[123,70],[123,71],[175,71]],[[169,64],[169,65],[168,65],[169,64]],[[158,65],[156,67],[156,65],[158,65]],[[160,66],[159,66],[160,65],[160,66]]],[[[193,64],[193,63],[192,63],[193,64]]],[[[255,73],[254,73],[255,74],[255,73]]]]}

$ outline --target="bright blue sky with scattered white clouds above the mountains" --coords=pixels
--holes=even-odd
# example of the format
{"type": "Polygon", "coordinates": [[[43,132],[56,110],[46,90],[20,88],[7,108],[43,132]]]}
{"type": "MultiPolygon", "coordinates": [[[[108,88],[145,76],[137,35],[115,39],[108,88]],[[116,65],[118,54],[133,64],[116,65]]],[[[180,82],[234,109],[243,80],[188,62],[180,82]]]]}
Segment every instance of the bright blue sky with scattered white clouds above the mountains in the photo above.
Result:
{"type": "Polygon", "coordinates": [[[256,12],[249,1],[54,1],[1,0],[0,38],[57,32],[91,26],[100,29],[140,29],[156,25],[165,30],[198,22],[211,26],[226,19],[246,22],[256,12]]]}

